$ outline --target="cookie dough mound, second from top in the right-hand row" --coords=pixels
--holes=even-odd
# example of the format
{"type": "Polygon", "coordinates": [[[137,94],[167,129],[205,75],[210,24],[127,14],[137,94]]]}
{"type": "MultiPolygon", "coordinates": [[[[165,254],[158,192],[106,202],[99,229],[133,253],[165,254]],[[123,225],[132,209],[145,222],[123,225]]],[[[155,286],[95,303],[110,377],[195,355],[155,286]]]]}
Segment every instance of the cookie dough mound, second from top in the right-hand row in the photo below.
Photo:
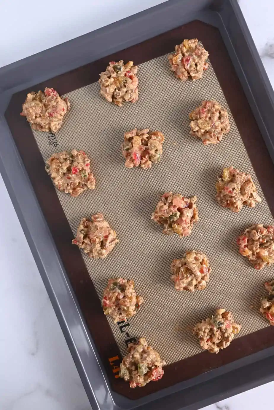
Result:
{"type": "Polygon", "coordinates": [[[203,101],[190,113],[190,120],[190,134],[204,145],[217,144],[230,130],[227,111],[217,101],[203,101]]]}

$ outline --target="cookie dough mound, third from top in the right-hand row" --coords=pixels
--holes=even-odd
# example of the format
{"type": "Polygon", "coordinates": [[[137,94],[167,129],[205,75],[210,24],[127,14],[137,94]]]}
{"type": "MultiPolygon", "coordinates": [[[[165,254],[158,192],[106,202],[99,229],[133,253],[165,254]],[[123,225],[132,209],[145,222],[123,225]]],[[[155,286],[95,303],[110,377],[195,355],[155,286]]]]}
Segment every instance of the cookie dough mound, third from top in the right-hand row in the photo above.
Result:
{"type": "Polygon", "coordinates": [[[253,208],[256,202],[261,202],[251,176],[233,166],[224,168],[223,175],[216,182],[216,189],[219,204],[233,212],[239,212],[243,205],[253,208]]]}

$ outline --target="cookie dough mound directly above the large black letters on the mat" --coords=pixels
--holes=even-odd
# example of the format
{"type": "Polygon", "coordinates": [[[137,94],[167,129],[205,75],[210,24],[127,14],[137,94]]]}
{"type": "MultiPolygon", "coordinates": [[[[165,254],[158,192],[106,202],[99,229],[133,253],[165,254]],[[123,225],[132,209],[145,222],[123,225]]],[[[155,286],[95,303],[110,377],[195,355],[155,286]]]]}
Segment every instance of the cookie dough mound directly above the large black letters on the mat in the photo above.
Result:
{"type": "Polygon", "coordinates": [[[102,306],[105,314],[109,314],[114,323],[127,321],[144,302],[142,296],[137,296],[134,281],[123,278],[109,279],[104,290],[102,306]]]}

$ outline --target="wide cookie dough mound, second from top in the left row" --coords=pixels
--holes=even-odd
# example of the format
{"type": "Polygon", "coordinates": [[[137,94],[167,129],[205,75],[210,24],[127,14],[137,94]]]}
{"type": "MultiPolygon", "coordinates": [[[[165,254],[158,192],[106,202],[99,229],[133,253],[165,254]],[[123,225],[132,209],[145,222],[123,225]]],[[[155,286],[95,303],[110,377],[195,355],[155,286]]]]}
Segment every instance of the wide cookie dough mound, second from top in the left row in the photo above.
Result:
{"type": "Polygon", "coordinates": [[[53,154],[46,162],[46,171],[59,191],[71,196],[75,197],[85,189],[95,188],[90,160],[84,151],[71,150],[53,154]]]}

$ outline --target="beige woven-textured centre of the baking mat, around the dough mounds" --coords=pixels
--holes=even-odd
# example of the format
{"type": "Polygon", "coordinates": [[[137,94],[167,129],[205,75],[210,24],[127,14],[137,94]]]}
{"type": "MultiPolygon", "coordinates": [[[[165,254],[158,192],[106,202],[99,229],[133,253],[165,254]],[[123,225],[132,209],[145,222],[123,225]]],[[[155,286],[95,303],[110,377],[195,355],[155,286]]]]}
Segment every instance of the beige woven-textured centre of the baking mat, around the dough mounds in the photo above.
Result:
{"type": "Polygon", "coordinates": [[[78,198],[57,191],[59,200],[74,234],[83,216],[103,212],[120,239],[104,260],[82,254],[99,298],[113,277],[134,279],[137,294],[144,297],[124,333],[109,321],[121,354],[127,351],[128,332],[130,337],[146,337],[171,364],[201,352],[191,328],[218,307],[233,312],[242,324],[240,336],[268,326],[259,305],[263,282],[274,277],[274,266],[256,271],[238,253],[236,237],[253,223],[269,224],[273,219],[212,66],[201,80],[181,82],[164,55],[141,64],[137,75],[137,103],[121,108],[108,103],[96,82],[66,94],[71,110],[56,134],[57,148],[49,146],[46,133],[34,131],[34,137],[45,161],[54,152],[72,148],[91,158],[95,190],[78,198]],[[188,115],[203,99],[216,99],[229,113],[231,131],[216,146],[203,146],[190,135],[188,115]],[[124,166],[123,134],[135,127],[159,130],[165,136],[162,159],[150,170],[124,166]],[[235,214],[218,205],[217,175],[230,165],[251,173],[262,197],[255,208],[244,207],[235,214]],[[165,236],[151,221],[164,191],[198,197],[200,220],[189,237],[165,236]],[[208,255],[210,281],[205,290],[193,294],[176,292],[170,280],[171,261],[192,249],[208,255]]]}

